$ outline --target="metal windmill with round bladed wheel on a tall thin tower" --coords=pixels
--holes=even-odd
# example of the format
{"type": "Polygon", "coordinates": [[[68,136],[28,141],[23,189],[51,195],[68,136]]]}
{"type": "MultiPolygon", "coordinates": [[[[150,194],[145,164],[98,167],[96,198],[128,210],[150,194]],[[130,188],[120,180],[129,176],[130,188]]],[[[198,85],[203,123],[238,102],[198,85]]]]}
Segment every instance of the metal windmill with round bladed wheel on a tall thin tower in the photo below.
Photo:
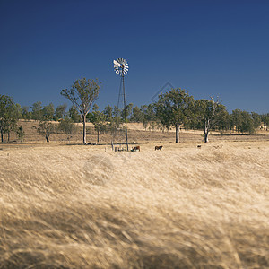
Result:
{"type": "Polygon", "coordinates": [[[119,100],[121,95],[123,96],[124,102],[124,109],[125,109],[125,121],[126,121],[126,149],[128,149],[128,133],[127,133],[127,117],[126,117],[126,90],[125,90],[125,75],[128,72],[129,66],[125,59],[117,58],[117,60],[113,61],[114,70],[116,74],[120,75],[120,86],[119,86],[119,93],[118,93],[118,101],[117,101],[117,108],[119,105],[119,100]],[[122,90],[122,93],[121,93],[122,90]]]}

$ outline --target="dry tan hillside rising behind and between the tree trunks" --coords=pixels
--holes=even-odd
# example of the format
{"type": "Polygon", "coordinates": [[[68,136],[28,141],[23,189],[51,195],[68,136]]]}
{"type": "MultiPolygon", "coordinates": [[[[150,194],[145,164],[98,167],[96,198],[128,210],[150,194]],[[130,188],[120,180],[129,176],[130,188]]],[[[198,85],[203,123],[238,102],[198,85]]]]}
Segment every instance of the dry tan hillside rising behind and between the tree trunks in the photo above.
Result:
{"type": "MultiPolygon", "coordinates": [[[[58,123],[52,122],[57,125],[58,123]]],[[[46,139],[43,135],[37,132],[38,121],[19,121],[19,126],[22,126],[25,136],[23,143],[46,143],[46,139]]],[[[77,126],[77,132],[72,134],[70,140],[67,140],[66,134],[59,131],[51,134],[49,137],[50,143],[82,143],[82,124],[75,124],[77,126]]],[[[128,123],[128,140],[129,143],[174,143],[175,142],[175,130],[171,128],[168,131],[162,132],[158,129],[145,129],[142,123],[128,123]]],[[[199,130],[180,130],[180,142],[195,142],[201,143],[203,141],[203,131],[199,130]]],[[[118,134],[116,137],[112,137],[111,134],[100,134],[100,144],[111,143],[114,139],[114,143],[125,143],[126,136],[124,133],[118,134]]],[[[269,131],[260,130],[256,135],[241,135],[236,132],[211,132],[209,140],[216,141],[266,141],[269,139],[269,131]]],[[[19,138],[14,134],[14,140],[19,143],[19,138]]],[[[94,130],[94,126],[91,123],[87,123],[87,142],[97,143],[97,133],[94,130]]]]}

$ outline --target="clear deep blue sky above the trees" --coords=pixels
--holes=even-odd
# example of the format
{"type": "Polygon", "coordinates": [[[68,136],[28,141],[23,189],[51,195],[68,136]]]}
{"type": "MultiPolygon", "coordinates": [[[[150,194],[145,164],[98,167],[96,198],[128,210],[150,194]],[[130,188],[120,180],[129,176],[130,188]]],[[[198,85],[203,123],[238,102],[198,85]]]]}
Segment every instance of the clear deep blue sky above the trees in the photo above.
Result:
{"type": "Polygon", "coordinates": [[[60,91],[82,77],[102,82],[100,108],[116,105],[123,57],[128,103],[170,82],[269,112],[267,0],[0,0],[0,37],[0,93],[22,106],[68,103],[60,91]]]}

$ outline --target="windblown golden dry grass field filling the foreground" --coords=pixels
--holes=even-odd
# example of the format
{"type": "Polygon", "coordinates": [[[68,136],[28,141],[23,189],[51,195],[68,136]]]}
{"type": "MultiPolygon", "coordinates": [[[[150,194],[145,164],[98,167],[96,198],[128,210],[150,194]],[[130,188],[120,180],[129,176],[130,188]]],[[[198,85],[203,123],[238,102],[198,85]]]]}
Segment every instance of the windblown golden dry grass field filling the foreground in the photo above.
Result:
{"type": "Polygon", "coordinates": [[[269,139],[185,135],[0,144],[0,268],[269,268],[269,139]]]}

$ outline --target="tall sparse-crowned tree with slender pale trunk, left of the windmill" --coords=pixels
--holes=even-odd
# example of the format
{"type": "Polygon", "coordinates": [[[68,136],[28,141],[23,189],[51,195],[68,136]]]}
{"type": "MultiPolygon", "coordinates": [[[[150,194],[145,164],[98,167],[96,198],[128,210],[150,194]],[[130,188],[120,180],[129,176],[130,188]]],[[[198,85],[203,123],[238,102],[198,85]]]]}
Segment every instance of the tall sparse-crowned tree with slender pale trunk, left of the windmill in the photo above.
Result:
{"type": "Polygon", "coordinates": [[[90,112],[92,104],[97,100],[100,91],[98,80],[86,80],[82,78],[74,81],[71,89],[64,89],[61,94],[70,100],[74,107],[82,115],[83,143],[86,144],[86,117],[90,112]]]}

